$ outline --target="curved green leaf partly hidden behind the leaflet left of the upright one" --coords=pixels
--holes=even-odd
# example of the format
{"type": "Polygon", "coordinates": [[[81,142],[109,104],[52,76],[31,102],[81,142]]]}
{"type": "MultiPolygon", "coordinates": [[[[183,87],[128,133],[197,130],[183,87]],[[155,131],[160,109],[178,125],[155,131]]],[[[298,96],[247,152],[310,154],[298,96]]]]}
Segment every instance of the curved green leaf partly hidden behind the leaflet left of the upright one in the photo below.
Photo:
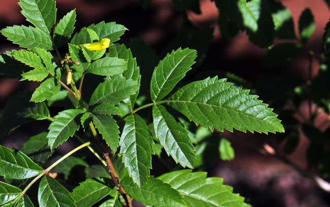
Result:
{"type": "MultiPolygon", "coordinates": [[[[125,45],[115,44],[109,48],[108,56],[118,57],[127,61],[127,70],[123,72],[121,76],[126,79],[132,79],[140,83],[140,67],[137,66],[136,58],[133,58],[132,52],[130,49],[126,48],[125,45]]],[[[134,108],[135,100],[138,96],[138,92],[134,95],[131,95],[129,98],[130,109],[134,108]]]]}

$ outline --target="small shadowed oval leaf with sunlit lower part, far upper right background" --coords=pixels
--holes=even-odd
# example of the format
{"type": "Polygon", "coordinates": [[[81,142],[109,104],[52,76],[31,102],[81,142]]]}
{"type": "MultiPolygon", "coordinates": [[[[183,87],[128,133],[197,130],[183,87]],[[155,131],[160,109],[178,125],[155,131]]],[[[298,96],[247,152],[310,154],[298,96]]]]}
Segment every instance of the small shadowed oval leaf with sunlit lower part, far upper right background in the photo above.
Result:
{"type": "Polygon", "coordinates": [[[305,9],[299,17],[299,34],[301,41],[306,43],[315,30],[315,21],[310,9],[305,9]]]}

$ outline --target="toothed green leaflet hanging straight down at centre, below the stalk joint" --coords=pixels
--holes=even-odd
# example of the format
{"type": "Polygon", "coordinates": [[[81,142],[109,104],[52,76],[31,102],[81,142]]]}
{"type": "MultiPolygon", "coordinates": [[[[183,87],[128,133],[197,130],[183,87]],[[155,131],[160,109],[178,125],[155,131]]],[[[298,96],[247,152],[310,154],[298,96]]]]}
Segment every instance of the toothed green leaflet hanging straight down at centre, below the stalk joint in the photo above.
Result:
{"type": "Polygon", "coordinates": [[[120,137],[120,154],[134,183],[142,186],[150,175],[153,141],[145,121],[137,114],[126,118],[120,137]]]}

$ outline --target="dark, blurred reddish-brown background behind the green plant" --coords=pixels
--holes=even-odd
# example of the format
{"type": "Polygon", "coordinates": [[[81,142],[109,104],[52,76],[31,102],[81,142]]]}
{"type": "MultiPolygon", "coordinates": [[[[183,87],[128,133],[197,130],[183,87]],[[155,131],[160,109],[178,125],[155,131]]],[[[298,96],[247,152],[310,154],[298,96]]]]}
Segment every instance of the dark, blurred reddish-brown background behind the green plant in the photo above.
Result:
{"type": "MultiPolygon", "coordinates": [[[[124,39],[139,38],[144,40],[156,51],[159,58],[164,57],[164,48],[177,37],[185,19],[185,14],[177,11],[171,0],[153,0],[147,9],[143,9],[139,5],[139,1],[130,0],[57,0],[56,2],[58,19],[76,8],[76,31],[91,23],[103,20],[106,22],[116,21],[129,29],[125,32],[124,39]]],[[[214,3],[209,0],[200,2],[202,14],[196,15],[193,12],[188,12],[188,18],[197,27],[210,28],[215,26],[215,29],[206,58],[197,70],[201,72],[212,70],[212,73],[231,72],[245,78],[250,83],[279,74],[290,74],[307,79],[308,54],[300,54],[298,58],[295,58],[292,63],[285,67],[265,67],[261,64],[261,60],[267,49],[254,46],[248,41],[245,33],[239,33],[230,40],[221,39],[217,27],[218,13],[214,3]]],[[[316,29],[307,44],[307,48],[313,49],[317,57],[321,50],[323,28],[330,17],[329,8],[322,0],[283,0],[281,2],[290,9],[296,30],[298,30],[297,22],[301,12],[307,7],[311,9],[315,18],[316,29]]],[[[28,23],[20,14],[17,1],[2,0],[0,4],[0,29],[13,24],[27,25],[28,23]]],[[[200,41],[203,43],[203,40],[200,41]]],[[[275,42],[279,41],[276,40],[275,42]]],[[[16,48],[4,37],[0,37],[0,52],[16,48]]],[[[315,76],[317,73],[318,63],[313,61],[312,75],[315,76]]],[[[281,85],[281,82],[277,84],[281,85]]],[[[32,82],[1,78],[0,108],[4,108],[8,98],[15,92],[32,90],[37,86],[36,83],[32,82]]],[[[305,103],[301,106],[301,111],[306,115],[305,103]]],[[[322,115],[319,119],[321,123],[322,115]]],[[[21,126],[4,139],[1,144],[20,149],[29,136],[47,129],[48,124],[49,122],[42,121],[21,126]]],[[[328,127],[328,125],[324,127],[328,127]]],[[[230,162],[220,159],[210,161],[207,163],[209,176],[223,177],[225,184],[234,186],[234,191],[240,192],[253,206],[330,206],[329,194],[320,190],[309,179],[302,177],[290,166],[276,158],[259,153],[260,147],[265,143],[272,145],[275,149],[281,148],[274,141],[272,134],[265,136],[234,131],[234,133],[223,132],[220,135],[225,135],[232,142],[236,158],[230,162]]],[[[306,167],[305,151],[308,140],[305,137],[301,138],[298,148],[289,156],[289,159],[301,167],[306,167]]],[[[58,148],[59,153],[69,151],[72,148],[72,142],[74,141],[60,146],[58,148]]],[[[154,172],[156,174],[157,169],[154,169],[154,172]]]]}

